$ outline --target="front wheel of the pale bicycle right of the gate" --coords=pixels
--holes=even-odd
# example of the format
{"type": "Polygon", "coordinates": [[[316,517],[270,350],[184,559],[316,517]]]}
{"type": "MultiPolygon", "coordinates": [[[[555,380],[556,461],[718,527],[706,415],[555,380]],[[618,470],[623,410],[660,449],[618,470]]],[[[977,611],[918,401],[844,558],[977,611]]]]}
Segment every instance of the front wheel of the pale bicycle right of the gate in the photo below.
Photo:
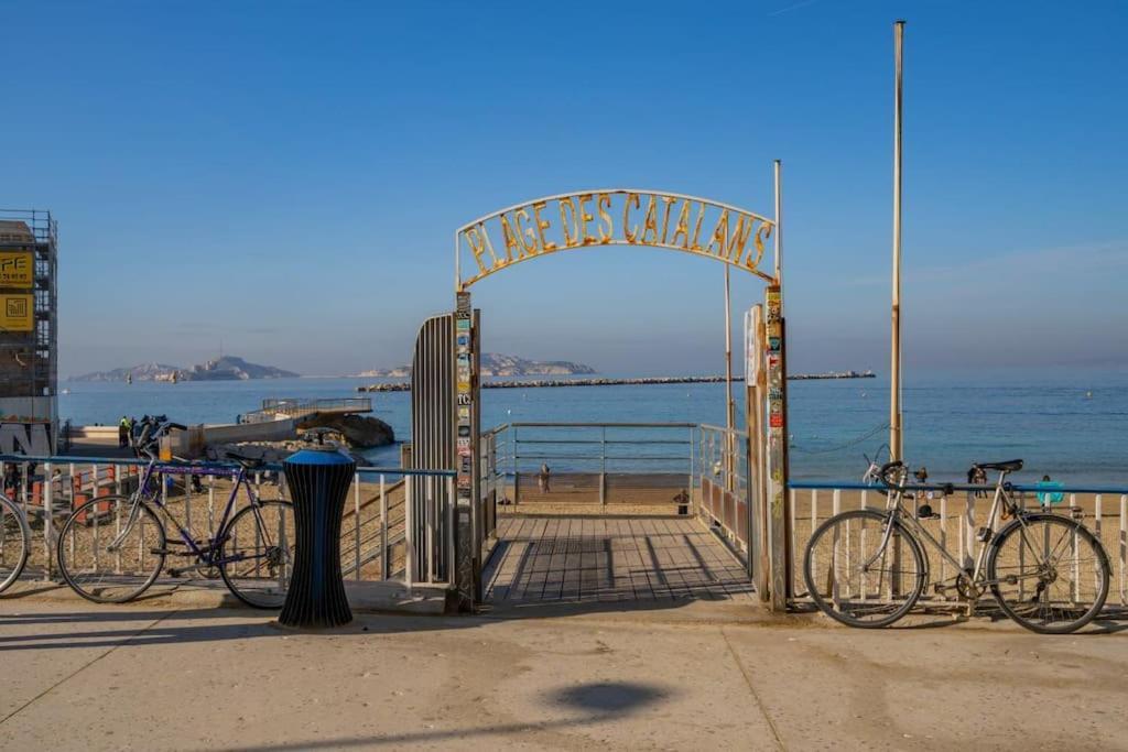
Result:
{"type": "Polygon", "coordinates": [[[882,547],[888,521],[872,510],[843,512],[811,536],[803,558],[807,591],[831,619],[851,627],[888,627],[920,598],[927,559],[900,523],[882,547]]]}

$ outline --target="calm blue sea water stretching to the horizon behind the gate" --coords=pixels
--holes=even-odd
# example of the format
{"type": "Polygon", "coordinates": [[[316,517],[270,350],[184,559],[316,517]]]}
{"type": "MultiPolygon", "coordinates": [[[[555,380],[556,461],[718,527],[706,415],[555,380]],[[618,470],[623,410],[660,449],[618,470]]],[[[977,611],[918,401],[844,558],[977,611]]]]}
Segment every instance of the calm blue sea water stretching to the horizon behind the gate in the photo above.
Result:
{"type": "MultiPolygon", "coordinates": [[[[264,398],[354,397],[378,379],[190,381],[176,384],[63,382],[63,419],[116,425],[122,415],[166,414],[180,423],[233,423],[264,398]]],[[[484,389],[483,428],[514,422],[685,422],[724,425],[724,384],[484,389]]],[[[734,383],[742,422],[743,384],[734,383]]],[[[854,480],[888,441],[888,381],[791,381],[792,476],[854,480]]],[[[411,395],[372,393],[373,414],[411,437],[411,395]]],[[[1021,458],[1019,480],[1128,485],[1128,369],[1038,369],[906,374],[905,454],[932,479],[961,480],[972,462],[1021,458]]],[[[398,448],[365,452],[398,465],[398,448]]],[[[564,469],[564,468],[559,468],[564,469]]]]}

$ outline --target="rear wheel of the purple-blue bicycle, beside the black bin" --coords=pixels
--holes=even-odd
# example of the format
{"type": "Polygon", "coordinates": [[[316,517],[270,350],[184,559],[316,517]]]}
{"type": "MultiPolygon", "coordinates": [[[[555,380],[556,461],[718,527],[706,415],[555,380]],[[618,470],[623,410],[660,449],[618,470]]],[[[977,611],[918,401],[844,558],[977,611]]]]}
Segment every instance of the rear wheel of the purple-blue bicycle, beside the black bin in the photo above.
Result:
{"type": "Polygon", "coordinates": [[[236,598],[256,609],[282,608],[293,576],[296,531],[290,502],[262,502],[231,517],[219,573],[236,598]]]}

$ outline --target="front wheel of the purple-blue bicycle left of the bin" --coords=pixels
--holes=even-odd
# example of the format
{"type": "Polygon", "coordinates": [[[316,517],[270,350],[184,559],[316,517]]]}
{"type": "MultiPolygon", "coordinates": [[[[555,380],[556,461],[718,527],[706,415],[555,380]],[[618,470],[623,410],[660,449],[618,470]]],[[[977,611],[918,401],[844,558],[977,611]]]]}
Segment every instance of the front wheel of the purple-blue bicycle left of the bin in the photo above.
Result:
{"type": "Polygon", "coordinates": [[[125,603],[146,592],[165,566],[165,528],[144,503],[98,496],[59,531],[59,570],[95,603],[125,603]]]}

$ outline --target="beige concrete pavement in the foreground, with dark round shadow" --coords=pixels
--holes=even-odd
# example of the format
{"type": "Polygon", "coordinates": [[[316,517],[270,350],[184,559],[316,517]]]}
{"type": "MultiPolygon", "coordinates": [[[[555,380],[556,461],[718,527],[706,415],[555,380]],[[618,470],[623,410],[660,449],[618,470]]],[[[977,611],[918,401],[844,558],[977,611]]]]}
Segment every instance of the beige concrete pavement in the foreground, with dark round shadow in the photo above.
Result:
{"type": "Polygon", "coordinates": [[[0,747],[1128,749],[1122,632],[562,608],[310,635],[247,610],[0,599],[0,747]]]}

